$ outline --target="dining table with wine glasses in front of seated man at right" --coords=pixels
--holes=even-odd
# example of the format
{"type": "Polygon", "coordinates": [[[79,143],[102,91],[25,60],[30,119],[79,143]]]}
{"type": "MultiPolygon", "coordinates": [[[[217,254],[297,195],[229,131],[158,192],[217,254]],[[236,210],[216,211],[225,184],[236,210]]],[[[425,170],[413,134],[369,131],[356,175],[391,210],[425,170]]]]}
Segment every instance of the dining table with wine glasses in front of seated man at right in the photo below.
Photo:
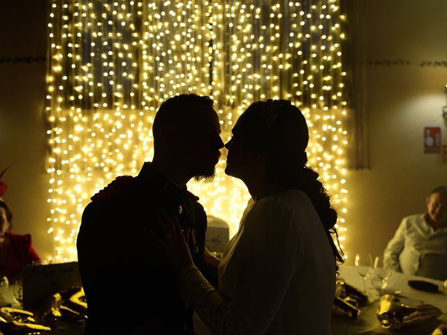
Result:
{"type": "Polygon", "coordinates": [[[339,268],[338,278],[360,292],[363,291],[367,295],[368,301],[365,306],[359,306],[360,314],[355,320],[333,315],[331,320],[332,335],[432,335],[434,329],[441,323],[447,322],[447,289],[443,281],[393,272],[383,287],[376,290],[372,287],[369,277],[366,278],[367,285],[365,287],[363,277],[359,273],[364,274],[365,272],[349,265],[342,265],[339,268]],[[438,286],[438,290],[436,292],[417,290],[409,285],[409,281],[433,283],[438,286]],[[442,314],[438,318],[426,320],[418,325],[402,329],[387,329],[381,326],[381,322],[377,318],[381,294],[395,295],[406,306],[415,307],[420,304],[430,304],[439,308],[442,314]]]}

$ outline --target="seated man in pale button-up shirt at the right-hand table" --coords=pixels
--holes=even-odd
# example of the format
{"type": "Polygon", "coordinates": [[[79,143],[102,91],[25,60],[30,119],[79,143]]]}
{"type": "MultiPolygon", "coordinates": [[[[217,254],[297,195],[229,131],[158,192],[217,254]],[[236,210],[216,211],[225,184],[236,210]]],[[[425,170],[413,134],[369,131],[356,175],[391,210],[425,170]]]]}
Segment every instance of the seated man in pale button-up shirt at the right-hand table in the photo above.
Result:
{"type": "Polygon", "coordinates": [[[383,253],[386,267],[404,274],[447,279],[447,186],[426,198],[427,212],[402,219],[383,253]]]}

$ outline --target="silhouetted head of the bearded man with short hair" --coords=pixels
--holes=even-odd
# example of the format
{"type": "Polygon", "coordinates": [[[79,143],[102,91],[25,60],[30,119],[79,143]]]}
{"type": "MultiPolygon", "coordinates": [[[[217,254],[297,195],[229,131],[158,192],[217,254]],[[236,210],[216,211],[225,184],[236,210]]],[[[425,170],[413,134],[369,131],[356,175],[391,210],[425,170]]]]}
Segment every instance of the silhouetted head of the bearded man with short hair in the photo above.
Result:
{"type": "Polygon", "coordinates": [[[152,127],[154,159],[175,164],[189,178],[210,178],[223,142],[219,117],[207,96],[180,94],[161,104],[152,127]]]}

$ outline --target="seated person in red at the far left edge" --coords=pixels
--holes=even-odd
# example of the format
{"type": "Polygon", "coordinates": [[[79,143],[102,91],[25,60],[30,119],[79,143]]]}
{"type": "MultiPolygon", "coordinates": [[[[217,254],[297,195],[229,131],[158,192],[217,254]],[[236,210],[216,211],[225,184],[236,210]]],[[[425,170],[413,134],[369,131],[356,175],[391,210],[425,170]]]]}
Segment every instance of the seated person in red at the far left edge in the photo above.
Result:
{"type": "Polygon", "coordinates": [[[31,235],[14,234],[12,228],[13,213],[6,202],[0,198],[0,274],[8,281],[20,279],[22,268],[41,258],[31,246],[31,235]]]}

